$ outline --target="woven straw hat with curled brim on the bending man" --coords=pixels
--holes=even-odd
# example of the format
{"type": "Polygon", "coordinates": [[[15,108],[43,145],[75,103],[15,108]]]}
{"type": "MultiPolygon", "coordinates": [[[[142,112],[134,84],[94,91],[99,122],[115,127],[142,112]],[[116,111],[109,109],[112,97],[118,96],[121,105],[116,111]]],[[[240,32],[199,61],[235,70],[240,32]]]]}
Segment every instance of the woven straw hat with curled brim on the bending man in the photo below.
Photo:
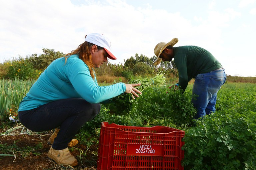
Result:
{"type": "Polygon", "coordinates": [[[161,42],[158,43],[154,49],[154,53],[157,56],[156,61],[153,63],[154,66],[157,66],[161,63],[162,59],[159,58],[160,54],[164,51],[164,49],[168,46],[174,46],[179,40],[177,38],[172,39],[169,43],[161,42]]]}

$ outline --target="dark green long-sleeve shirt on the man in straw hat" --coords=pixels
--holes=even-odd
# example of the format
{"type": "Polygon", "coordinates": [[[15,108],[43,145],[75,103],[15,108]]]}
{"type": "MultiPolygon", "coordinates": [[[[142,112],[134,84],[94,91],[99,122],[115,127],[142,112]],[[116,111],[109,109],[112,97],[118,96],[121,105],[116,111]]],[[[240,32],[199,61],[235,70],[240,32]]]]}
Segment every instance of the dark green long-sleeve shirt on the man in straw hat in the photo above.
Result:
{"type": "Polygon", "coordinates": [[[197,46],[173,48],[174,63],[179,72],[179,85],[183,90],[196,75],[222,68],[218,60],[207,50],[197,46]]]}

